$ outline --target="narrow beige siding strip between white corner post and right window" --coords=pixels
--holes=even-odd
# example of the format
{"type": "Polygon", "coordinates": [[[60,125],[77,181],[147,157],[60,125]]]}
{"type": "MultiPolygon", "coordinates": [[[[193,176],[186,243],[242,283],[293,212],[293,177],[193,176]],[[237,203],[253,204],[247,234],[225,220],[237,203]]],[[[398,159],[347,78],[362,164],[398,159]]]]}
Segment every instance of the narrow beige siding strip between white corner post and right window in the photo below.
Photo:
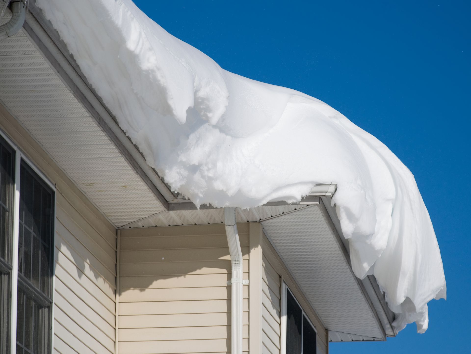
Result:
{"type": "Polygon", "coordinates": [[[280,353],[281,277],[264,256],[262,258],[262,351],[280,353]]]}

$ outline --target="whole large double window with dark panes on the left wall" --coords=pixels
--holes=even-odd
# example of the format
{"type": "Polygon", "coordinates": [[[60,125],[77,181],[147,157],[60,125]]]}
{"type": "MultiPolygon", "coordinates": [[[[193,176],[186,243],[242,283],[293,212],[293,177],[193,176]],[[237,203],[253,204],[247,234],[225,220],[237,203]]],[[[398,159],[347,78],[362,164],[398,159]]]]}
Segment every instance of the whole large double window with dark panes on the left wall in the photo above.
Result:
{"type": "Polygon", "coordinates": [[[52,347],[54,188],[0,135],[0,354],[52,347]]]}

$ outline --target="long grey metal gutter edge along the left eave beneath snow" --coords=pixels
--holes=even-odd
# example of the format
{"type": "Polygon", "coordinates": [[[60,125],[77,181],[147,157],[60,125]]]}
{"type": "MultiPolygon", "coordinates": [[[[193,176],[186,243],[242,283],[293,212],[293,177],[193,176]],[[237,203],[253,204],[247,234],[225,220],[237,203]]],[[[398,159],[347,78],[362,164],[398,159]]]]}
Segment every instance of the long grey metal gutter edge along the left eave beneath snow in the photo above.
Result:
{"type": "Polygon", "coordinates": [[[24,29],[47,57],[61,79],[89,110],[97,124],[108,134],[123,156],[126,157],[162,205],[168,210],[167,202],[174,199],[175,195],[155,170],[147,164],[136,145],[122,131],[113,114],[106,108],[99,95],[91,87],[78,64],[73,59],[73,56],[67,50],[65,43],[60,39],[52,24],[45,19],[41,9],[36,6],[35,1],[30,1],[24,29]]]}

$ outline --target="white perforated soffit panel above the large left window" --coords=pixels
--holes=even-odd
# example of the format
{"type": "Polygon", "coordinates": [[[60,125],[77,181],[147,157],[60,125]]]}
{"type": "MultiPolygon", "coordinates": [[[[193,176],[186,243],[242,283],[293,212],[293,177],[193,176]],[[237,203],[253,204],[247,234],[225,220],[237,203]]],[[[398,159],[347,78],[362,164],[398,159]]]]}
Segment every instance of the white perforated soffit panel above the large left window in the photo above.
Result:
{"type": "Polygon", "coordinates": [[[115,226],[165,210],[23,31],[0,41],[0,100],[115,226]]]}

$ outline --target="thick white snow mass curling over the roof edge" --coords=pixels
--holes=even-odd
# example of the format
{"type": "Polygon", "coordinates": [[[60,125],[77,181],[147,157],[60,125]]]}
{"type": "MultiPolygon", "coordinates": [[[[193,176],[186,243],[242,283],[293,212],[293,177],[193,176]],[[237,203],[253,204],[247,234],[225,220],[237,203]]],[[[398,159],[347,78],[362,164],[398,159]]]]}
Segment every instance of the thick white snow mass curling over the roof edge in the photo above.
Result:
{"type": "Polygon", "coordinates": [[[397,330],[427,329],[427,302],[446,296],[439,246],[414,176],[382,142],[316,98],[221,69],[130,0],[36,3],[172,189],[247,208],[337,183],[355,274],[376,276],[397,330]]]}

